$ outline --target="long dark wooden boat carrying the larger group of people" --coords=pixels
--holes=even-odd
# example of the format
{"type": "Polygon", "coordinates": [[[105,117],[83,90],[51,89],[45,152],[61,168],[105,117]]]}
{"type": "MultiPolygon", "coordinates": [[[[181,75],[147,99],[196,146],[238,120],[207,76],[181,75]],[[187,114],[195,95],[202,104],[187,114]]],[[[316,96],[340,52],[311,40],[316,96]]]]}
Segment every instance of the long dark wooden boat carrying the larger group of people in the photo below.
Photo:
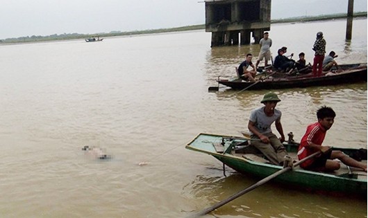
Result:
{"type": "Polygon", "coordinates": [[[345,64],[335,67],[331,71],[324,72],[321,77],[314,78],[312,73],[301,75],[287,75],[286,73],[271,72],[269,78],[257,82],[244,82],[241,80],[220,80],[217,82],[231,89],[290,89],[303,87],[319,87],[336,84],[348,84],[356,82],[367,82],[367,63],[345,64]],[[254,84],[257,83],[257,84],[254,84]]]}

